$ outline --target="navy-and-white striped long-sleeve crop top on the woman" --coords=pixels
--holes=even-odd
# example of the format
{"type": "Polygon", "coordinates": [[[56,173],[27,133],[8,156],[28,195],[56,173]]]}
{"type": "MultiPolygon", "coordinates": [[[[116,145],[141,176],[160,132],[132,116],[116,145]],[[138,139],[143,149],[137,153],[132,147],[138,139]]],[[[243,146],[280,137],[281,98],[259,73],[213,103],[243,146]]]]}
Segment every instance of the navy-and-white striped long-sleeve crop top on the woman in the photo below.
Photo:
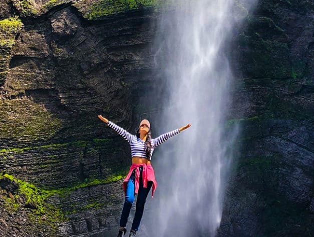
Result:
{"type": "Polygon", "coordinates": [[[119,127],[117,124],[109,121],[108,126],[115,130],[119,135],[121,135],[125,140],[127,140],[131,146],[131,156],[143,157],[147,159],[151,159],[154,149],[159,146],[161,143],[167,141],[170,137],[178,134],[180,131],[179,129],[175,129],[173,131],[164,133],[159,137],[151,139],[152,149],[150,152],[150,157],[146,155],[146,147],[145,141],[137,138],[136,135],[132,135],[131,133],[127,132],[125,129],[119,127]]]}

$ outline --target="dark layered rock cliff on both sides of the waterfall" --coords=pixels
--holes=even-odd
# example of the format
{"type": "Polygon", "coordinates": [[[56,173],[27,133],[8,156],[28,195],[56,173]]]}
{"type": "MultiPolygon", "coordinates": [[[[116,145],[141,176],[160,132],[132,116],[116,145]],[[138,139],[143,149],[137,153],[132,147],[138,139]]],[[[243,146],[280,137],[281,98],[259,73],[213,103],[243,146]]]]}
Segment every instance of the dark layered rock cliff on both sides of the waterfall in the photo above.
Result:
{"type": "MultiPolygon", "coordinates": [[[[160,109],[146,93],[161,86],[159,14],[144,5],[110,15],[91,1],[1,3],[4,236],[115,232],[130,151],[97,115],[132,132],[160,109]]],[[[313,232],[313,22],[310,1],[263,0],[235,29],[228,126],[242,135],[219,236],[313,232]]]]}

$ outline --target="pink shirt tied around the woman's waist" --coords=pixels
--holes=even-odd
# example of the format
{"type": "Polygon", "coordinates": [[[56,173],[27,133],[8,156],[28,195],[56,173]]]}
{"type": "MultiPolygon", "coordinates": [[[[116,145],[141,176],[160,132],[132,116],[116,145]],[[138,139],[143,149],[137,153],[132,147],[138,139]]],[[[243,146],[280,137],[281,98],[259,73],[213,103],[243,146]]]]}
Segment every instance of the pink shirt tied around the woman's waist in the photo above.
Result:
{"type": "Polygon", "coordinates": [[[143,167],[143,171],[142,171],[143,187],[147,188],[147,182],[148,181],[152,181],[153,182],[152,197],[153,197],[155,189],[157,188],[157,182],[156,182],[156,179],[155,179],[155,173],[154,173],[153,166],[151,164],[145,164],[145,163],[143,163],[143,164],[132,164],[131,165],[130,171],[129,171],[127,177],[123,181],[124,194],[126,195],[127,184],[128,184],[128,181],[129,181],[129,179],[130,179],[134,169],[136,169],[136,173],[135,173],[135,193],[138,193],[138,189],[139,189],[139,186],[140,186],[140,167],[141,166],[143,167]]]}

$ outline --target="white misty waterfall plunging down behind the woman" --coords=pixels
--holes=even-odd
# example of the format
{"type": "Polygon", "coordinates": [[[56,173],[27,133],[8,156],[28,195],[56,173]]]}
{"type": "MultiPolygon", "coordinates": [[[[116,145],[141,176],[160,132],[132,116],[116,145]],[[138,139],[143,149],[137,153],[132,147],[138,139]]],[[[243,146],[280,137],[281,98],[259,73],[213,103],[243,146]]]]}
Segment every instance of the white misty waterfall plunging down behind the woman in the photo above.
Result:
{"type": "Polygon", "coordinates": [[[180,0],[162,16],[156,64],[168,91],[156,132],[192,126],[153,156],[158,188],[148,207],[153,209],[144,214],[149,236],[215,236],[219,227],[229,147],[236,138],[236,131],[224,135],[232,83],[224,49],[234,26],[233,5],[180,0]]]}

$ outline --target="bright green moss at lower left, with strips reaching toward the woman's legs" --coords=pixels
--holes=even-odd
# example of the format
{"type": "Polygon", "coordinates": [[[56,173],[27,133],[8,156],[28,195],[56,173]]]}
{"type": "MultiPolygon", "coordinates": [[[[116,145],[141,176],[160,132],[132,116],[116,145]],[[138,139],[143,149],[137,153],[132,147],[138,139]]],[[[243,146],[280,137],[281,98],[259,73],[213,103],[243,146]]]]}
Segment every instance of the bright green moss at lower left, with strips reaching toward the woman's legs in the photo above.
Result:
{"type": "MultiPolygon", "coordinates": [[[[47,199],[53,195],[59,195],[60,197],[67,197],[73,191],[79,188],[85,188],[94,185],[107,184],[121,180],[128,172],[127,167],[123,167],[114,171],[113,174],[104,179],[86,179],[85,182],[80,182],[67,188],[59,188],[54,190],[45,190],[37,188],[34,184],[19,180],[13,175],[7,173],[0,173],[0,179],[6,177],[13,180],[18,184],[19,189],[17,194],[12,198],[6,198],[5,206],[12,212],[18,212],[22,206],[17,202],[17,199],[23,197],[26,201],[26,205],[32,206],[29,218],[34,224],[50,226],[53,229],[53,234],[57,231],[57,223],[66,220],[66,214],[75,213],[78,210],[84,211],[89,208],[101,208],[104,203],[100,203],[97,200],[91,201],[83,207],[80,207],[80,203],[74,203],[71,211],[63,212],[60,208],[49,204],[47,199]],[[47,218],[42,219],[45,215],[47,218]]],[[[54,236],[54,235],[53,235],[54,236]]]]}

